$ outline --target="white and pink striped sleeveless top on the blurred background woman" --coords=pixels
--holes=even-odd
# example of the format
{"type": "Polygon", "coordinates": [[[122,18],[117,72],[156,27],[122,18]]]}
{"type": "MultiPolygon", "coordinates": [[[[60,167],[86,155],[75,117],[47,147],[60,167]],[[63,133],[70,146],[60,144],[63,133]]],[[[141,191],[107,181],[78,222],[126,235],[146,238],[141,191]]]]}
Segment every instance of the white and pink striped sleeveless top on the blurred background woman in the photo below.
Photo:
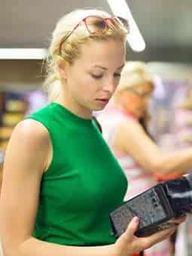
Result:
{"type": "MultiPolygon", "coordinates": [[[[151,172],[142,168],[131,153],[126,153],[115,146],[116,134],[118,126],[123,122],[139,122],[139,118],[132,113],[111,104],[105,109],[104,113],[99,116],[99,123],[102,125],[102,133],[107,140],[108,145],[113,150],[115,156],[120,162],[127,179],[129,180],[129,189],[126,191],[125,201],[138,193],[142,193],[149,187],[154,186],[156,181],[151,172]]],[[[126,138],[125,138],[126,140],[126,138]]],[[[128,140],[125,141],[127,143],[128,140]]]]}

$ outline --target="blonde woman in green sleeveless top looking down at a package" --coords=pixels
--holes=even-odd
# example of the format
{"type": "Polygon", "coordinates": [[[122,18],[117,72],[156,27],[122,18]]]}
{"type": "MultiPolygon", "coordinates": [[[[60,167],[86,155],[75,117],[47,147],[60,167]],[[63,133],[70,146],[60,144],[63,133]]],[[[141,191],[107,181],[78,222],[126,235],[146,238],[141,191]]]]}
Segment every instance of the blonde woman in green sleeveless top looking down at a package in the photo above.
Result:
{"type": "Polygon", "coordinates": [[[174,232],[175,224],[137,238],[135,217],[117,241],[111,234],[108,214],[123,202],[126,177],[92,111],[106,106],[119,83],[128,29],[123,18],[97,10],[73,11],[56,24],[51,102],[17,125],[5,156],[5,256],[130,256],[174,232]]]}

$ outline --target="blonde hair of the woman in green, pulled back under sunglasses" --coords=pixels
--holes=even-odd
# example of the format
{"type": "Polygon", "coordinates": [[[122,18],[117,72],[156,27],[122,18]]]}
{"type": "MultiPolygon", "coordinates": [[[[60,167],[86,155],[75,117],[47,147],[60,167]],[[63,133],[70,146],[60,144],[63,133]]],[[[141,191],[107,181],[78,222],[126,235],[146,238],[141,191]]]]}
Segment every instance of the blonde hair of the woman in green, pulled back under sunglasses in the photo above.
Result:
{"type": "Polygon", "coordinates": [[[56,23],[50,43],[49,56],[47,58],[47,79],[44,82],[44,88],[47,91],[50,101],[56,100],[60,92],[61,79],[57,71],[57,63],[59,60],[65,60],[66,63],[72,65],[75,59],[81,54],[81,45],[92,40],[102,41],[117,39],[122,42],[126,41],[126,29],[118,23],[108,23],[108,30],[104,35],[99,36],[90,36],[84,26],[83,28],[79,26],[78,29],[69,36],[67,42],[62,44],[59,54],[59,45],[62,39],[65,39],[84,17],[90,15],[110,17],[105,11],[79,9],[66,14],[66,16],[62,17],[58,23],[56,23]]]}

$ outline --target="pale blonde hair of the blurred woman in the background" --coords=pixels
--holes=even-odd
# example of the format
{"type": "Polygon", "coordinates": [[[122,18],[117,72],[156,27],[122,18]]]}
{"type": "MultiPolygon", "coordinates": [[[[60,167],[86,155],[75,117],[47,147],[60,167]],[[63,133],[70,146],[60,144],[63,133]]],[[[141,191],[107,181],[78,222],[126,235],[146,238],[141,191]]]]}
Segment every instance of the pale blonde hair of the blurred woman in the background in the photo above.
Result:
{"type": "Polygon", "coordinates": [[[127,61],[121,72],[117,91],[142,86],[145,82],[154,88],[154,79],[148,71],[148,66],[142,61],[127,61]]]}

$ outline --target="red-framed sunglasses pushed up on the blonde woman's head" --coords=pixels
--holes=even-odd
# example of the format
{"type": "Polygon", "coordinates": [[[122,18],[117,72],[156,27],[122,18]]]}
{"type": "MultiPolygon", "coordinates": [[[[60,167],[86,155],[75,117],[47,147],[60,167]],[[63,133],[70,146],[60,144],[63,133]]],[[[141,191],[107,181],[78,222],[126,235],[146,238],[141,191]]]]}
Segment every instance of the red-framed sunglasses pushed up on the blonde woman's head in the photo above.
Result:
{"type": "Polygon", "coordinates": [[[129,32],[129,23],[126,19],[123,17],[99,17],[99,16],[87,16],[83,20],[81,20],[74,29],[72,29],[72,32],[69,32],[69,34],[61,40],[59,43],[59,55],[61,54],[62,45],[66,40],[69,38],[70,35],[75,31],[75,29],[78,28],[82,23],[87,28],[87,31],[90,33],[90,35],[93,36],[99,36],[104,35],[105,32],[108,31],[108,23],[118,23],[118,25],[123,26],[124,29],[126,29],[127,33],[129,32]]]}

